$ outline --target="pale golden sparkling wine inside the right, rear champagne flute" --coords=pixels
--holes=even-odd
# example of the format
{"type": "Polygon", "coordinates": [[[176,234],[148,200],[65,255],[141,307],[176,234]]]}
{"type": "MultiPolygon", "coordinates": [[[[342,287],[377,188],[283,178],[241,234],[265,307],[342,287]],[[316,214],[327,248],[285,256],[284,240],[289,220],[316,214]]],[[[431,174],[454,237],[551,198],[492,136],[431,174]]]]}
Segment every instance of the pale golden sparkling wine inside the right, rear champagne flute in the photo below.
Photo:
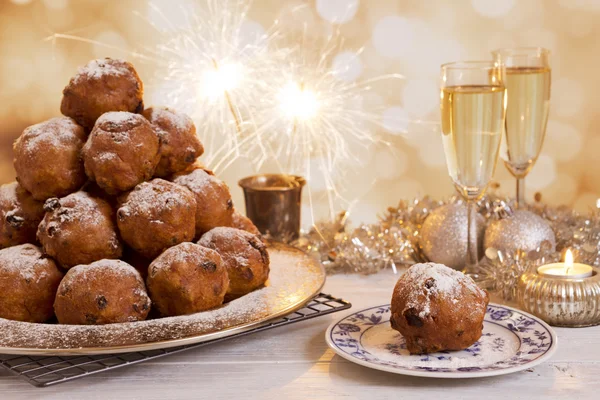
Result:
{"type": "Polygon", "coordinates": [[[550,68],[506,69],[506,154],[508,170],[522,178],[535,163],[546,134],[550,108],[550,68]]]}

